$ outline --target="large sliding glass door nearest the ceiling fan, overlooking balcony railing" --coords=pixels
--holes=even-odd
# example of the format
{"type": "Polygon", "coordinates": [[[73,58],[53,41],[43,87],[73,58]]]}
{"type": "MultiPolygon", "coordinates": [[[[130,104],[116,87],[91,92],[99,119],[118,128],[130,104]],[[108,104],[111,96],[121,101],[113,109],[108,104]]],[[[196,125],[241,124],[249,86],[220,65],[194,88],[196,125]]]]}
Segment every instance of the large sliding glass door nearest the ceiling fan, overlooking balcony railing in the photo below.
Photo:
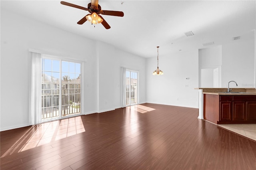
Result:
{"type": "Polygon", "coordinates": [[[81,112],[82,63],[42,57],[42,122],[81,112]]]}

